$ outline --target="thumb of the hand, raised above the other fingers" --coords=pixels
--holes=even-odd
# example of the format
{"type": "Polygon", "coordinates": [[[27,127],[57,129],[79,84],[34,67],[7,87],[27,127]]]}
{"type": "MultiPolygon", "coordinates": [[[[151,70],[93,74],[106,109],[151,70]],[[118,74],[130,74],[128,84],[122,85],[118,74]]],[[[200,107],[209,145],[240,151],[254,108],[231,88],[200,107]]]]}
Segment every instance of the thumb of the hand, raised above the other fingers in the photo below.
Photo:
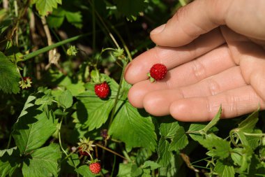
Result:
{"type": "Polygon", "coordinates": [[[263,0],[255,3],[245,0],[193,1],[180,8],[166,24],[151,31],[151,39],[161,46],[181,46],[222,24],[245,36],[264,39],[264,8],[263,0]]]}

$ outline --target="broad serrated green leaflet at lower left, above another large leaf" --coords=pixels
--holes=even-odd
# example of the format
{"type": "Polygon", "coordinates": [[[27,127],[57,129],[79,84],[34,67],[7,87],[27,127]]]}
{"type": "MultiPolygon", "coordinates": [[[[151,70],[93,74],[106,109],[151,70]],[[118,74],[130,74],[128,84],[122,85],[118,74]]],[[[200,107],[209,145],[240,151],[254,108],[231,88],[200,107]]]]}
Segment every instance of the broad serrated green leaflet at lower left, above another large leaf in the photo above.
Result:
{"type": "Polygon", "coordinates": [[[57,120],[47,118],[38,106],[27,108],[28,113],[20,117],[14,125],[13,138],[22,154],[40,148],[56,131],[57,120]]]}

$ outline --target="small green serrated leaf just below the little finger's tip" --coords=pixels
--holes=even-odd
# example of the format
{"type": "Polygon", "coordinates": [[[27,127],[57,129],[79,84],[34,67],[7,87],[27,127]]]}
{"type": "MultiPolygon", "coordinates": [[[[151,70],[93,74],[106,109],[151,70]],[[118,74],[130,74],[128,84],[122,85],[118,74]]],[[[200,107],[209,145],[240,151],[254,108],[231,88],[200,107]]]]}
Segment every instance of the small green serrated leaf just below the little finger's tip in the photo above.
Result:
{"type": "Polygon", "coordinates": [[[160,134],[165,136],[166,139],[172,139],[179,129],[179,122],[162,123],[160,125],[160,134]]]}

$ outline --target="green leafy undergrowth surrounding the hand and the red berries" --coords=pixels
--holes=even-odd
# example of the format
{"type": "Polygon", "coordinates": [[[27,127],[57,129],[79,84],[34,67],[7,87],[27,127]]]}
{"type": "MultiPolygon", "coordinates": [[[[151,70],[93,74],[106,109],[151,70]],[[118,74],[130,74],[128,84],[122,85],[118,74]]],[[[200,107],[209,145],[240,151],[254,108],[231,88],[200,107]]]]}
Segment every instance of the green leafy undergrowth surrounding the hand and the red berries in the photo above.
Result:
{"type": "Polygon", "coordinates": [[[127,62],[187,2],[33,0],[0,10],[0,176],[264,176],[264,113],[221,120],[220,108],[211,122],[178,122],[128,101],[127,62]],[[28,90],[22,77],[32,78],[28,90]],[[106,99],[94,93],[103,81],[106,99]],[[98,175],[88,164],[96,159],[98,175]]]}

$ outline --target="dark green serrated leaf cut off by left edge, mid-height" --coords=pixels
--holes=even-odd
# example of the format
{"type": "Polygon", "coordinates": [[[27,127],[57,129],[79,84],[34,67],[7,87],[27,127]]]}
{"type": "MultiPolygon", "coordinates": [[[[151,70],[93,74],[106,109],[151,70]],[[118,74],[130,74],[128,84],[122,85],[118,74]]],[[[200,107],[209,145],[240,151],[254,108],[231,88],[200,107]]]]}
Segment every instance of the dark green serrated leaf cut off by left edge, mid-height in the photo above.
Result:
{"type": "Polygon", "coordinates": [[[20,92],[19,81],[20,73],[17,66],[0,52],[0,90],[8,94],[17,94],[20,92]]]}

